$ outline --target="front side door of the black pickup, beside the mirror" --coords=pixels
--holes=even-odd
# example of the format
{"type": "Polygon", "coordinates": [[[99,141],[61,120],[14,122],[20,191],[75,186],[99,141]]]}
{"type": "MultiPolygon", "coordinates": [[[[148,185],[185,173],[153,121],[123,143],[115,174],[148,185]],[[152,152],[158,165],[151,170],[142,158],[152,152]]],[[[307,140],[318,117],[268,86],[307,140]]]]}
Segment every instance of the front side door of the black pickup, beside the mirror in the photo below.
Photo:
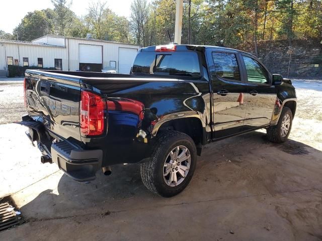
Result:
{"type": "Polygon", "coordinates": [[[245,129],[251,130],[270,124],[276,88],[272,85],[271,75],[253,56],[240,54],[247,83],[247,112],[245,129]]]}

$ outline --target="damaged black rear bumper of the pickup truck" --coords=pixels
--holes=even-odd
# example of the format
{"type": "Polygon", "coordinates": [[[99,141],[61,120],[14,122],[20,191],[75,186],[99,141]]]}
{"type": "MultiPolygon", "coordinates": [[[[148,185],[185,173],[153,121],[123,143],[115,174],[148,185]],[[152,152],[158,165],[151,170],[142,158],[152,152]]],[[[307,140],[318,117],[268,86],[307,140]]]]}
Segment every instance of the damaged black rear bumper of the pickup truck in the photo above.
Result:
{"type": "Polygon", "coordinates": [[[26,116],[24,117],[24,121],[17,124],[29,128],[29,139],[32,142],[37,141],[42,154],[51,158],[67,176],[79,182],[96,178],[96,172],[102,167],[102,150],[84,150],[63,138],[58,138],[56,134],[53,134],[53,142],[53,135],[40,122],[31,118],[26,121],[26,116]]]}

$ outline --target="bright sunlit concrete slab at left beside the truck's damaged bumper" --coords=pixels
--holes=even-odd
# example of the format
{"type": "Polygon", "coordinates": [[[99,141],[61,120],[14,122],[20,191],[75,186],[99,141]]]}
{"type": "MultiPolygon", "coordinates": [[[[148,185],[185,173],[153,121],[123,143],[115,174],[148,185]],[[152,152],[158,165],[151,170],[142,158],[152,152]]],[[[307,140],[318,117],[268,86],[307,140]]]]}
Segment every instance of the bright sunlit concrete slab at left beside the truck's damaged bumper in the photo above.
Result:
{"type": "Polygon", "coordinates": [[[19,190],[58,171],[56,165],[40,164],[41,153],[33,147],[17,124],[0,125],[0,197],[19,190]]]}

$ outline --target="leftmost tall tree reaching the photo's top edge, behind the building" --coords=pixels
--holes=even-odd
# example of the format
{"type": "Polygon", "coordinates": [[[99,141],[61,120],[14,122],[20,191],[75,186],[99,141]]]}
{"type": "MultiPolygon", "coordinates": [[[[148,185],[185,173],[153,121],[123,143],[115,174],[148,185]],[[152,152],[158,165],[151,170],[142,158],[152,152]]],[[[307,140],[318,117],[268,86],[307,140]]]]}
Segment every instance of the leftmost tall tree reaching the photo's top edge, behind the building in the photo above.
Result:
{"type": "Polygon", "coordinates": [[[55,32],[58,35],[67,35],[75,14],[70,10],[72,1],[51,0],[55,12],[55,32]]]}

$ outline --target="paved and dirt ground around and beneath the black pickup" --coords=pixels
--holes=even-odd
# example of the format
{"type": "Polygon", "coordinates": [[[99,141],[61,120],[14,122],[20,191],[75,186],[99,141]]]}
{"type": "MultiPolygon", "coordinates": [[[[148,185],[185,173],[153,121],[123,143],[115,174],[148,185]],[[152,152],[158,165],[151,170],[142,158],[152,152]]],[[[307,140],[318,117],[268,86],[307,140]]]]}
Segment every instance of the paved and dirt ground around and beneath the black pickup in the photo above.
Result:
{"type": "Polygon", "coordinates": [[[41,165],[11,123],[24,112],[22,83],[0,82],[0,197],[11,194],[28,221],[0,240],[322,240],[322,82],[294,85],[289,141],[258,131],[210,144],[187,189],[166,199],[144,187],[138,165],[88,184],[41,165]]]}

